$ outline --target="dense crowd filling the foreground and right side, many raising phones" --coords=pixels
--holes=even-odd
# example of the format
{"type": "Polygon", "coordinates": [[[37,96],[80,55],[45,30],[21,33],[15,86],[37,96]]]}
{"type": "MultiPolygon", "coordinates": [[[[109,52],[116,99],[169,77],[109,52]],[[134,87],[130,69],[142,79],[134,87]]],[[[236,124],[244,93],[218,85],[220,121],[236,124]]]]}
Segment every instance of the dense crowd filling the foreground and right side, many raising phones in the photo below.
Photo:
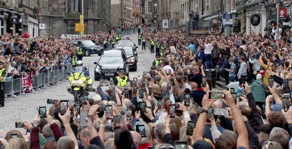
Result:
{"type": "MultiPolygon", "coordinates": [[[[110,36],[105,34],[101,36],[110,36]]],[[[184,33],[145,30],[141,35],[150,43],[151,52],[158,51],[149,70],[137,76],[137,83],[131,80],[128,86],[125,72],[119,71],[112,88],[103,91],[99,85],[92,99],[68,102],[64,115],[59,114],[56,99],[46,118],[37,115],[34,125],[23,122],[29,134],[11,130],[0,135],[0,148],[175,149],[182,144],[187,149],[292,148],[289,36],[281,36],[275,45],[274,39],[256,33],[185,39],[184,33]],[[217,80],[226,81],[227,90],[216,90],[224,99],[209,98],[214,89],[208,71],[216,71],[217,80]],[[243,91],[234,98],[238,88],[243,91]],[[287,98],[289,102],[283,103],[287,98]],[[80,111],[76,111],[78,106],[80,111]],[[105,106],[112,107],[112,115],[98,110],[105,106]],[[175,107],[175,116],[169,115],[170,107],[175,107]],[[214,108],[228,112],[218,116],[214,108]],[[122,109],[131,110],[131,120],[121,116],[122,109]],[[88,116],[80,114],[84,112],[88,116]],[[117,121],[119,127],[113,126],[117,121]],[[144,128],[145,134],[139,133],[144,128]]]]}

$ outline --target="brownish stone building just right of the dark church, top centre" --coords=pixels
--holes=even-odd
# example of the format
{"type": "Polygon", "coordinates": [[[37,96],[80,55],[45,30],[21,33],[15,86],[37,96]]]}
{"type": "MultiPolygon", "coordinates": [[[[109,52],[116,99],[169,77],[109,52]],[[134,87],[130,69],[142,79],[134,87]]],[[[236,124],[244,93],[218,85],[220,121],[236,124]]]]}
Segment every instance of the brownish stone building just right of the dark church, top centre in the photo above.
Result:
{"type": "Polygon", "coordinates": [[[110,22],[112,26],[129,26],[134,23],[135,0],[109,0],[110,1],[110,22]],[[121,18],[122,16],[122,18],[121,18]]]}

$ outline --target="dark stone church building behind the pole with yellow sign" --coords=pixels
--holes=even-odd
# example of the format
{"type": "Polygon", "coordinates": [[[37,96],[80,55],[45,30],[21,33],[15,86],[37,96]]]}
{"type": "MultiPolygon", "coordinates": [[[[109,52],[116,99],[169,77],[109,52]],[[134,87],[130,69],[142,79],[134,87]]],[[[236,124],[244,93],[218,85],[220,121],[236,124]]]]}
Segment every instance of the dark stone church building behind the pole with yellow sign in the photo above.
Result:
{"type": "MultiPolygon", "coordinates": [[[[80,23],[82,0],[40,0],[39,5],[39,23],[45,26],[40,35],[80,34],[75,32],[75,23],[80,23]]],[[[83,0],[83,8],[84,34],[110,29],[110,0],[83,0]]]]}

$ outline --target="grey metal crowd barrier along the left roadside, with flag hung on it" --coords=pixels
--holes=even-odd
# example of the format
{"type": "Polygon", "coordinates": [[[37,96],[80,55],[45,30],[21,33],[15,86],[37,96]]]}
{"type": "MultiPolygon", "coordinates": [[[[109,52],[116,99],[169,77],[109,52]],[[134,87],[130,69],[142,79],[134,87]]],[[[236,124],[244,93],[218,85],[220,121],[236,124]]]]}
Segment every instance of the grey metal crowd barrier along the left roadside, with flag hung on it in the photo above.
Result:
{"type": "MultiPolygon", "coordinates": [[[[50,83],[62,81],[64,77],[67,75],[67,72],[72,72],[72,70],[73,67],[71,64],[69,64],[66,69],[57,69],[50,71],[49,73],[44,72],[37,75],[33,75],[32,87],[35,91],[48,90],[50,88],[49,86],[50,83]]],[[[5,95],[12,95],[11,97],[8,98],[25,96],[22,85],[23,85],[22,77],[6,81],[4,91],[5,95]],[[18,96],[15,96],[13,95],[15,93],[20,94],[18,96]]]]}

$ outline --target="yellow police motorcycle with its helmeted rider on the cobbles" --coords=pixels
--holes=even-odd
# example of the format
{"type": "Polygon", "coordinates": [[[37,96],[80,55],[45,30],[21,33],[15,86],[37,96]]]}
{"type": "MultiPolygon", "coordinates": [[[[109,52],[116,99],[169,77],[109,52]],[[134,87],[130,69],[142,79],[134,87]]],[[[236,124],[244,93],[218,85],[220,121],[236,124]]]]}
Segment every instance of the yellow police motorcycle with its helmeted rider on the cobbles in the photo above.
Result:
{"type": "Polygon", "coordinates": [[[89,95],[93,92],[92,79],[89,77],[87,67],[83,67],[82,61],[77,61],[77,66],[73,67],[73,71],[67,73],[66,79],[70,82],[67,91],[74,96],[74,101],[78,101],[83,95],[89,95]]]}

